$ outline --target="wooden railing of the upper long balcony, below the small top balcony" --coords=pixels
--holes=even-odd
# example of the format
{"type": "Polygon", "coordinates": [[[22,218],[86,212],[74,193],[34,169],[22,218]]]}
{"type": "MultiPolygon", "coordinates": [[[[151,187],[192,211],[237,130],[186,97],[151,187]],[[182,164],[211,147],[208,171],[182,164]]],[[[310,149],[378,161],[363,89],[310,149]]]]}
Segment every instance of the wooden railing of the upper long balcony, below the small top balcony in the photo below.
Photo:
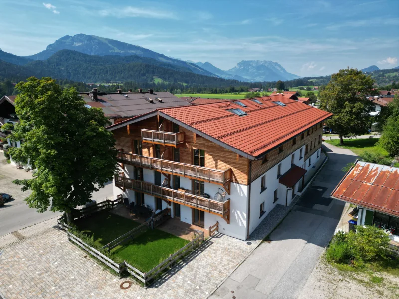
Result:
{"type": "Polygon", "coordinates": [[[138,154],[118,152],[117,160],[120,163],[137,167],[145,167],[152,170],[171,173],[192,179],[213,182],[225,185],[231,180],[231,168],[227,170],[216,170],[190,164],[173,162],[168,160],[145,157],[138,154]]]}

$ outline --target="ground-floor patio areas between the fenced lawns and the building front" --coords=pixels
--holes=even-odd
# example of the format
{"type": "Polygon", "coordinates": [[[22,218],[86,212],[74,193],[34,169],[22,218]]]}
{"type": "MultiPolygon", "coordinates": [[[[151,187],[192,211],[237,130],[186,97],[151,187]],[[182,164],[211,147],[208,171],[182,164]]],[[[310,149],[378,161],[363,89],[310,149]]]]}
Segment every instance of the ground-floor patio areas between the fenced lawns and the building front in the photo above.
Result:
{"type": "MultiPolygon", "coordinates": [[[[111,210],[110,213],[122,216],[124,218],[131,219],[133,221],[144,223],[145,218],[134,213],[130,213],[128,207],[118,206],[115,209],[111,210]]],[[[162,230],[164,232],[175,235],[179,238],[183,238],[185,240],[191,241],[194,237],[194,230],[199,230],[204,232],[204,237],[209,237],[209,230],[201,228],[199,226],[195,226],[189,223],[185,223],[180,221],[178,218],[171,218],[162,223],[157,229],[162,230]]]]}

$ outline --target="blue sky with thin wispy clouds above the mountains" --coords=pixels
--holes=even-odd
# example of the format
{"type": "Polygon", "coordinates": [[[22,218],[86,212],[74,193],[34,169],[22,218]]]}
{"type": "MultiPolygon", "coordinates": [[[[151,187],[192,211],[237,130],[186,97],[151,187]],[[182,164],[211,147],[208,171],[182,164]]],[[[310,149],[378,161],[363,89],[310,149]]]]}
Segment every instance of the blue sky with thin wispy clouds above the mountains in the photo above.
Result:
{"type": "Polygon", "coordinates": [[[0,48],[108,37],[227,70],[272,60],[300,76],[399,65],[399,0],[1,0],[0,48]]]}

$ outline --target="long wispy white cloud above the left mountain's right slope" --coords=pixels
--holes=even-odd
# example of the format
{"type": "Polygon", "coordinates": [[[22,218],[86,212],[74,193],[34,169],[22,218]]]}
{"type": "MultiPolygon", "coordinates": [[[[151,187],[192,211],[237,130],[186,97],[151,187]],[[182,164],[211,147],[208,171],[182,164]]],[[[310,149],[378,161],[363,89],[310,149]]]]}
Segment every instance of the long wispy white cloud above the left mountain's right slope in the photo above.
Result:
{"type": "MultiPolygon", "coordinates": [[[[96,12],[97,14],[97,12],[96,12]]],[[[138,8],[133,6],[126,6],[123,8],[110,8],[98,11],[100,16],[115,16],[119,18],[124,17],[145,17],[145,18],[156,18],[156,19],[177,19],[176,15],[172,12],[165,10],[155,10],[138,8]]]]}

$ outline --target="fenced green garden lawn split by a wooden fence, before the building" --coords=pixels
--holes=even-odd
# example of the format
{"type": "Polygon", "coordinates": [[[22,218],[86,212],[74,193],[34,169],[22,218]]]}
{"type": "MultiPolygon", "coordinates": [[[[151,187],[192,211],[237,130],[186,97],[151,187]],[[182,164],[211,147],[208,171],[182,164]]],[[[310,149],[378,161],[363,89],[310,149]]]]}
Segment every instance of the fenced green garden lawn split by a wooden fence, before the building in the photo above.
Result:
{"type": "MultiPolygon", "coordinates": [[[[87,236],[94,235],[95,245],[98,247],[106,245],[140,225],[109,212],[96,213],[89,218],[76,221],[75,224],[87,236]]],[[[148,229],[132,241],[118,245],[111,250],[111,253],[120,260],[126,260],[140,271],[147,272],[187,243],[189,243],[188,240],[164,231],[148,229]]]]}

